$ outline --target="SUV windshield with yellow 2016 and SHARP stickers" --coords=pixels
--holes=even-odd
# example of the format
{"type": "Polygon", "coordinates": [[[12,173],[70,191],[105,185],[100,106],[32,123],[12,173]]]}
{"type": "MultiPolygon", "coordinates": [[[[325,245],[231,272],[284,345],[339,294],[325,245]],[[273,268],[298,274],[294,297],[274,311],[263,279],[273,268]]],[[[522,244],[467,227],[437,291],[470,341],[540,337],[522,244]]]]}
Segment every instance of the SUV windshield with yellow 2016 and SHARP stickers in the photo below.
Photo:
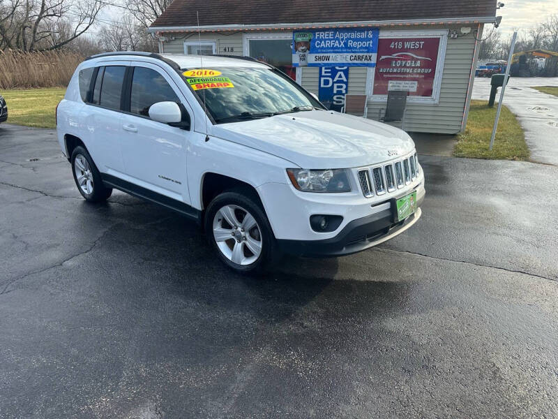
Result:
{"type": "Polygon", "coordinates": [[[183,75],[217,123],[323,109],[273,68],[193,68],[183,70],[183,75]]]}

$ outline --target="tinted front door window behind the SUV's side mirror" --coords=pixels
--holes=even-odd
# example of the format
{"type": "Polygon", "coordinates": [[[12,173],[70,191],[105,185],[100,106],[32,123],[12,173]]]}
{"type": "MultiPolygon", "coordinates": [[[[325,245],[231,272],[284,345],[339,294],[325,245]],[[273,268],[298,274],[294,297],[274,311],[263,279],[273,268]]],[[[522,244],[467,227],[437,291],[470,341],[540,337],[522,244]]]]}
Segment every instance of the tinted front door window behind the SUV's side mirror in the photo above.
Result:
{"type": "Polygon", "coordinates": [[[135,67],[132,78],[130,112],[149,117],[149,107],[153,103],[166,101],[180,103],[180,99],[163,78],[163,75],[151,70],[151,68],[135,67]]]}

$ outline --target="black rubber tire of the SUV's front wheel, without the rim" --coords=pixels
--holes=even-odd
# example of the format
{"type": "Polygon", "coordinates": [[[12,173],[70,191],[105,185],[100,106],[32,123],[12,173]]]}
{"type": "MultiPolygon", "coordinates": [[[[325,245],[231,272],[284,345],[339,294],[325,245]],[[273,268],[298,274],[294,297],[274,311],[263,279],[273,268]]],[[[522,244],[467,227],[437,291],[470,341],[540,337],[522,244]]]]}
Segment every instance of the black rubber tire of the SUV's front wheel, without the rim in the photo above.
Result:
{"type": "MultiPolygon", "coordinates": [[[[269,263],[276,259],[276,239],[273,235],[273,231],[271,230],[271,226],[269,225],[269,220],[267,219],[261,203],[259,203],[259,200],[255,196],[255,193],[248,189],[235,189],[232,191],[226,191],[213,198],[205,212],[204,227],[209,244],[213,248],[213,250],[216,251],[218,258],[223,263],[225,263],[227,267],[231,268],[235,272],[261,272],[264,267],[266,267],[267,265],[269,265],[269,263]],[[257,258],[252,263],[249,263],[247,265],[234,263],[227,256],[225,256],[223,251],[221,251],[220,247],[218,246],[215,235],[213,234],[213,223],[215,220],[219,220],[218,217],[216,218],[216,214],[227,205],[239,207],[239,214],[242,214],[243,210],[245,210],[247,213],[251,214],[254,217],[257,223],[256,227],[259,231],[261,253],[259,253],[259,256],[257,256],[257,258]]],[[[232,237],[231,240],[232,246],[235,246],[234,237],[232,237]]],[[[231,240],[227,240],[227,245],[229,247],[231,247],[231,240]]],[[[239,241],[237,242],[240,243],[239,241]]],[[[244,247],[248,247],[248,244],[245,244],[244,247]]],[[[250,255],[250,253],[252,253],[250,249],[243,250],[243,252],[245,256],[246,254],[250,255]]],[[[254,253],[252,253],[252,258],[253,257],[255,257],[254,253]]]]}

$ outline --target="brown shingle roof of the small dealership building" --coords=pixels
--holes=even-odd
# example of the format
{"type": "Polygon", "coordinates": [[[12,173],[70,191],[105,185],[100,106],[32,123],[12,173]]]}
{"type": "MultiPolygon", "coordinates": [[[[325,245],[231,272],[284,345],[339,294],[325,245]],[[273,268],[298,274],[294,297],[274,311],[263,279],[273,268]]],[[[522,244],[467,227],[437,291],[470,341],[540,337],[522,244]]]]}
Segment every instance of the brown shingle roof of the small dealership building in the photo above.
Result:
{"type": "Polygon", "coordinates": [[[495,16],[496,0],[174,0],[151,27],[495,16]]]}

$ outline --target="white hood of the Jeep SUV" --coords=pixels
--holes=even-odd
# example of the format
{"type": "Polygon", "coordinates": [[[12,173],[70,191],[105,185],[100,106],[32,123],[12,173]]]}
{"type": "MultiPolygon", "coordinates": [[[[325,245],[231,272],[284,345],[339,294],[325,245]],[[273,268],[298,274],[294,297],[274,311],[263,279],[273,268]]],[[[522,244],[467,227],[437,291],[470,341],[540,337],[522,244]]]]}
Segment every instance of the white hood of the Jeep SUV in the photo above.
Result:
{"type": "Polygon", "coordinates": [[[313,110],[218,124],[213,135],[292,161],[301,168],[354,168],[412,152],[398,128],[339,112],[313,110]]]}

